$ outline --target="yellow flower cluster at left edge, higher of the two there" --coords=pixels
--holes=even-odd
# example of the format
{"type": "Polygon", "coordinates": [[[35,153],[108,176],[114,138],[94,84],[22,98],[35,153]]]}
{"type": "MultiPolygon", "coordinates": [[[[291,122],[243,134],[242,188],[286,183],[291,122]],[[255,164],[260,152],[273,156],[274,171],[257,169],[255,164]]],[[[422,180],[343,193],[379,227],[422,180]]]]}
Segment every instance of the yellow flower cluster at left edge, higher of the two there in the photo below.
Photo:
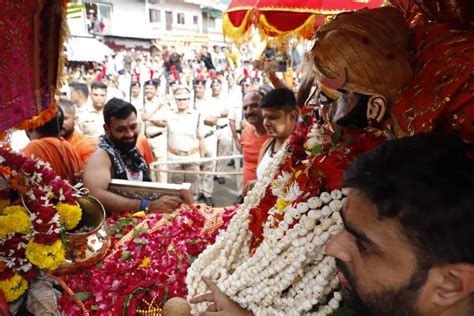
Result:
{"type": "Polygon", "coordinates": [[[9,233],[28,234],[31,232],[31,220],[23,206],[7,206],[0,215],[0,238],[9,233]]]}

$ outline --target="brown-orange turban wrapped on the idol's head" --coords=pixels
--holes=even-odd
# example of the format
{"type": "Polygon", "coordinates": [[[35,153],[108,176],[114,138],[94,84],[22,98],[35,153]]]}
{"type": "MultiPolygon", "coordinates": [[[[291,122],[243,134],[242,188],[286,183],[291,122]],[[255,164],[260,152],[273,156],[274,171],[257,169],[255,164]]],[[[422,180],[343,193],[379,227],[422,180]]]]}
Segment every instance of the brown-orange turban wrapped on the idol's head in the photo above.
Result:
{"type": "Polygon", "coordinates": [[[395,8],[339,14],[316,32],[316,77],[329,88],[393,101],[411,78],[408,41],[405,19],[395,8]]]}

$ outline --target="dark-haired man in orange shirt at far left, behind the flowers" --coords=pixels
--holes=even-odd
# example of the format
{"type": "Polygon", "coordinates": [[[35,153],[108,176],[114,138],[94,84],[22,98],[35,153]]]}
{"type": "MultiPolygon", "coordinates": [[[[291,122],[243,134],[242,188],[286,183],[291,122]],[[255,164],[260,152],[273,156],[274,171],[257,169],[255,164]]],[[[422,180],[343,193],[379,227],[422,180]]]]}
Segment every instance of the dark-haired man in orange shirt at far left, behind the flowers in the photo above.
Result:
{"type": "Polygon", "coordinates": [[[26,132],[30,142],[23,154],[49,162],[51,168],[71,184],[77,182],[84,163],[72,146],[60,136],[64,116],[59,107],[57,115],[46,124],[26,132]]]}

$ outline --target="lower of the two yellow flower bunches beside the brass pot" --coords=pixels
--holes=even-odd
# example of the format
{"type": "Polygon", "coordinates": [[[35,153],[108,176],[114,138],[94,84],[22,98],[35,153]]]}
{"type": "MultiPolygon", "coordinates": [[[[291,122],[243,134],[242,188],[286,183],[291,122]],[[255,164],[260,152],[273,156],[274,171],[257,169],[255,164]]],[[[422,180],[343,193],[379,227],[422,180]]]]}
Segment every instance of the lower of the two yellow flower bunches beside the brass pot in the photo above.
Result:
{"type": "Polygon", "coordinates": [[[56,240],[52,245],[36,243],[32,239],[26,247],[26,257],[40,269],[54,270],[64,261],[64,244],[61,239],[56,240]]]}

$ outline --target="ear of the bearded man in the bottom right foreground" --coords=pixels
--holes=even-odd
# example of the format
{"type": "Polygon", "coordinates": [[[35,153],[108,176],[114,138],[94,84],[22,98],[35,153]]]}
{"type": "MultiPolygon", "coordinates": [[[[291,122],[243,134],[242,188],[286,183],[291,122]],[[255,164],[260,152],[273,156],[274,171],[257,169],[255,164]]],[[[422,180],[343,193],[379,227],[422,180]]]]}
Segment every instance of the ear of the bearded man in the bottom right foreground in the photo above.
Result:
{"type": "Polygon", "coordinates": [[[442,275],[436,287],[433,303],[452,306],[474,293],[474,264],[455,263],[442,267],[442,275]]]}

